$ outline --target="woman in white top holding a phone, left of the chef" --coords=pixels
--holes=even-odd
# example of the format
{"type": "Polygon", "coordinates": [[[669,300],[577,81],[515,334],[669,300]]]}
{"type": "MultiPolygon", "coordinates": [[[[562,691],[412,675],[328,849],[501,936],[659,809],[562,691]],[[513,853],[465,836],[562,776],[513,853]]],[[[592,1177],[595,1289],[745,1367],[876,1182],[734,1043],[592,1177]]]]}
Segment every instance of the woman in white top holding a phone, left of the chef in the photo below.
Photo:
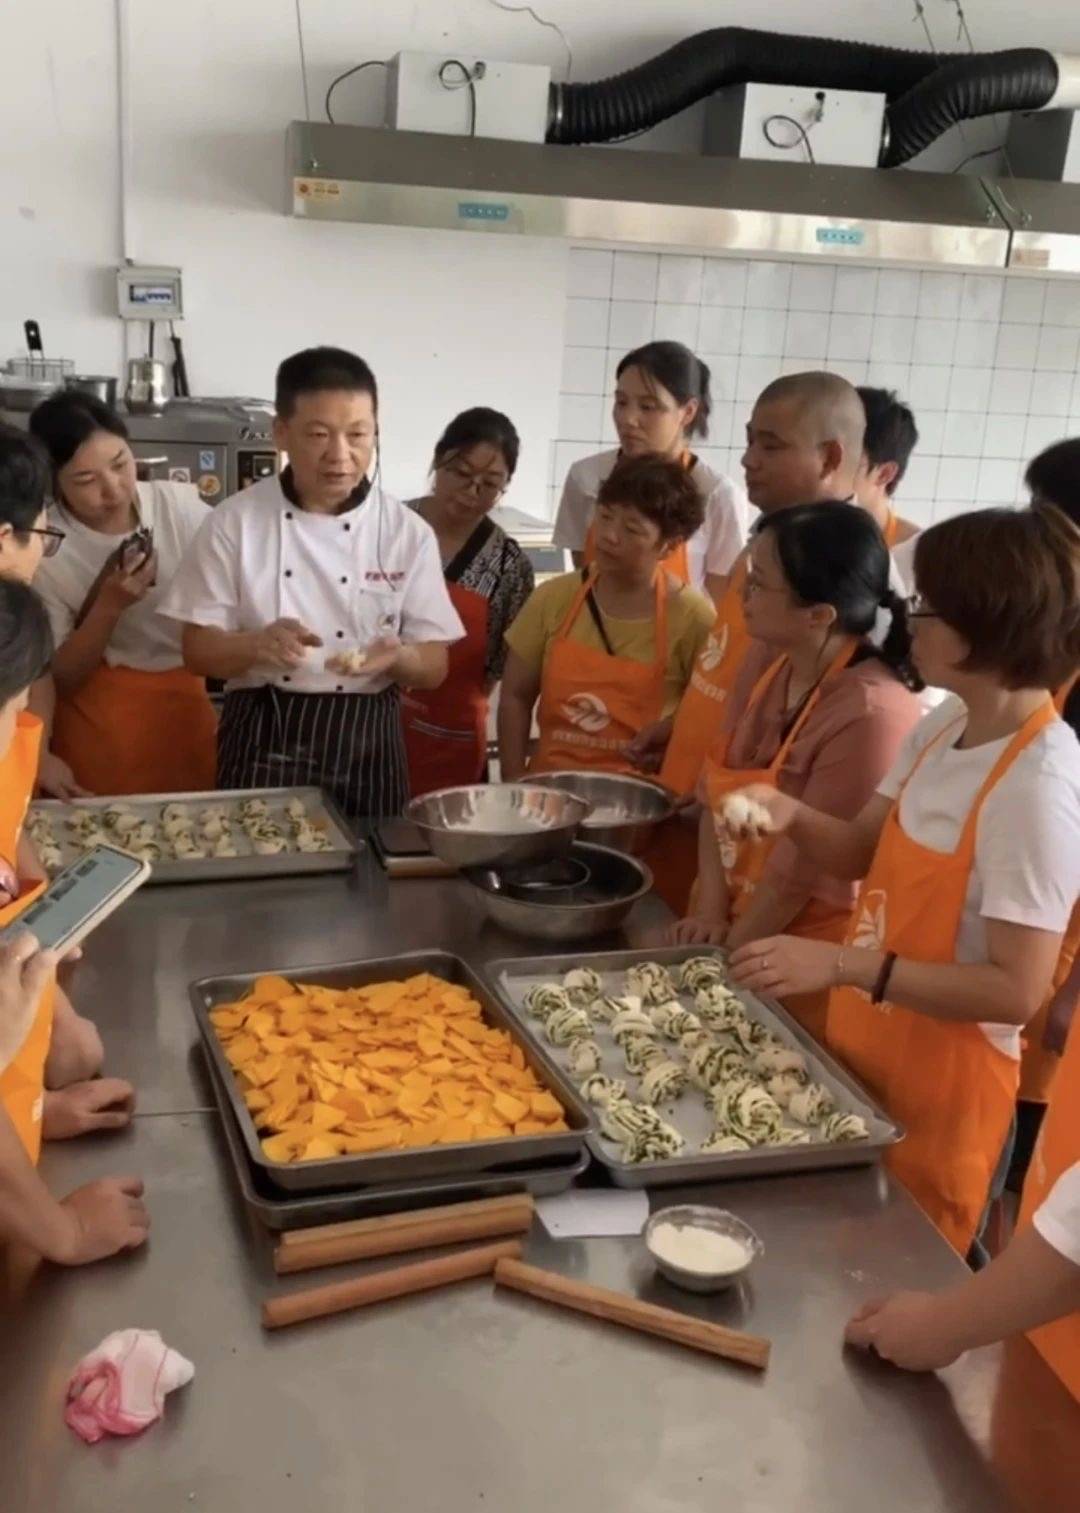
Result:
{"type": "Polygon", "coordinates": [[[191,484],[136,483],[124,422],[85,393],[30,416],[64,551],[35,586],[56,640],[51,750],[91,793],[213,787],[216,719],[157,604],[207,514],[191,484]]]}

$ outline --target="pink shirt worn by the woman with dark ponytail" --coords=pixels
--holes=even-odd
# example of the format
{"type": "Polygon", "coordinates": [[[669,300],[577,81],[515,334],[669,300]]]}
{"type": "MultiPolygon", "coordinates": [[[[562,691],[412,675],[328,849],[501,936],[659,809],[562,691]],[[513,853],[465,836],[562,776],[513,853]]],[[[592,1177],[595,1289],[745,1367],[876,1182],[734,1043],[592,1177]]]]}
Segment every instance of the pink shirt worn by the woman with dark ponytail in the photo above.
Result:
{"type": "MultiPolygon", "coordinates": [[[[790,725],[785,707],[791,670],[782,669],[747,713],[753,685],[773,661],[774,652],[755,643],[735,679],[725,720],[725,731],[732,731],[729,767],[767,767],[781,747],[790,725]]],[[[812,809],[853,820],[877,791],[921,713],[918,694],[905,688],[877,657],[849,664],[821,688],[777,775],[781,791],[812,809]]],[[[820,871],[784,837],[771,849],[764,878],[776,888],[809,888],[811,897],[833,908],[855,906],[858,884],[820,871]]]]}

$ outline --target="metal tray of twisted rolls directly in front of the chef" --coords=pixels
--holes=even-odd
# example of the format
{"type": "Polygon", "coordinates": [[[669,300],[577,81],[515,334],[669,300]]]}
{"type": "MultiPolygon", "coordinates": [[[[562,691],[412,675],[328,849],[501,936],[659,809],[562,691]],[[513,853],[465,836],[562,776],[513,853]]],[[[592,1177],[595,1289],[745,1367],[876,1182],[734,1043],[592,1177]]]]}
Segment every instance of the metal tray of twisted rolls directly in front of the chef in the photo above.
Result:
{"type": "Polygon", "coordinates": [[[53,820],[53,831],[64,853],[61,865],[67,867],[82,855],[70,840],[70,832],[64,823],[71,811],[107,809],[113,803],[123,803],[133,814],[157,826],[160,811],[166,803],[183,803],[198,811],[209,806],[236,806],[245,799],[265,799],[271,809],[271,819],[281,823],[286,834],[289,832],[289,822],[284,817],[284,805],[289,799],[303,799],[310,817],[322,825],[334,849],[328,852],[281,852],[280,856],[256,856],[250,849],[251,841],[236,826],[233,840],[241,850],[239,856],[156,861],[150,864],[148,884],[228,882],[241,878],[292,878],[310,873],[348,871],[363,844],[352,835],[340,809],[322,788],[216,788],[209,793],[136,793],[73,799],[71,802],[42,799],[30,808],[32,812],[47,814],[53,820]],[[248,847],[247,853],[244,853],[245,847],[248,847]]]}

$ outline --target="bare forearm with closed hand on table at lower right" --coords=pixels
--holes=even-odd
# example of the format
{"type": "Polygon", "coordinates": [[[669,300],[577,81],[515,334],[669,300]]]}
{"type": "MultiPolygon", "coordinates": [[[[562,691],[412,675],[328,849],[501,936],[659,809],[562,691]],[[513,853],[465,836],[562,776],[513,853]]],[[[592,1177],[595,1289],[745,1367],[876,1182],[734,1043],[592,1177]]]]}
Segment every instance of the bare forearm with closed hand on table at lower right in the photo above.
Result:
{"type": "Polygon", "coordinates": [[[1077,1309],[1080,1266],[1027,1224],[989,1266],[945,1292],[898,1292],[865,1304],[844,1337],[908,1371],[936,1371],[965,1350],[1038,1328],[1077,1309]]]}

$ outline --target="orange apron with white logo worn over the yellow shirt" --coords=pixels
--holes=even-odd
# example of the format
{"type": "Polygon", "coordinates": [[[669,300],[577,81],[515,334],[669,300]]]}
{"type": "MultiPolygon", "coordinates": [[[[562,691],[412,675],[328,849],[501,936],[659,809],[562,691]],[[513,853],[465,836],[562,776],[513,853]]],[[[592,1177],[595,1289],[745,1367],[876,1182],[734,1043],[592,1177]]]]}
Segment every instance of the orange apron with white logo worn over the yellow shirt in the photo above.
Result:
{"type": "Polygon", "coordinates": [[[581,646],[570,631],[581,614],[593,573],[573,596],[548,652],[540,681],[540,741],[529,772],[597,767],[635,773],[623,755],[634,737],[658,720],[664,708],[667,672],[667,573],[656,572],[655,657],[652,664],[632,657],[610,657],[581,646]]]}

